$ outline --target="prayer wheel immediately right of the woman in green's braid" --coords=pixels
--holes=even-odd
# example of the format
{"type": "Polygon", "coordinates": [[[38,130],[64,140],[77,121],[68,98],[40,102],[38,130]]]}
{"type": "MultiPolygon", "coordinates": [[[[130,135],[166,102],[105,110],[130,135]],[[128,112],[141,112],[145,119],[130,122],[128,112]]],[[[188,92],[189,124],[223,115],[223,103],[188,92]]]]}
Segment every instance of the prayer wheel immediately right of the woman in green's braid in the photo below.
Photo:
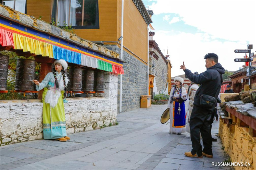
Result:
{"type": "Polygon", "coordinates": [[[82,90],[82,69],[79,67],[70,67],[68,72],[68,91],[81,92],[82,90]]]}

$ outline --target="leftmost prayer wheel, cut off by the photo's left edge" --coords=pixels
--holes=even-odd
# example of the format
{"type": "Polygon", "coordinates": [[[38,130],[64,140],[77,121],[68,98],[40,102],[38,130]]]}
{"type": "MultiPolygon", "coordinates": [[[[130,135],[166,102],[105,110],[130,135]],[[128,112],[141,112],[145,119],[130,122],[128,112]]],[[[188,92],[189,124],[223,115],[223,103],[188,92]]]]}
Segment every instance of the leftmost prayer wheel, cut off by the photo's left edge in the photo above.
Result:
{"type": "Polygon", "coordinates": [[[9,56],[1,54],[0,57],[0,90],[6,90],[9,56]]]}

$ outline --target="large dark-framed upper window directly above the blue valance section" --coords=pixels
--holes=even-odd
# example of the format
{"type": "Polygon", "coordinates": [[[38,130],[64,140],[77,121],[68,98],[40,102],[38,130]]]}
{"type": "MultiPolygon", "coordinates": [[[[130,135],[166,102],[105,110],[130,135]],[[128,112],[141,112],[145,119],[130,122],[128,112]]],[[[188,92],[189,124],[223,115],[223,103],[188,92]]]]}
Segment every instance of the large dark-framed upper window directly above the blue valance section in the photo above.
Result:
{"type": "Polygon", "coordinates": [[[76,29],[99,29],[98,0],[52,0],[52,23],[76,29]]]}

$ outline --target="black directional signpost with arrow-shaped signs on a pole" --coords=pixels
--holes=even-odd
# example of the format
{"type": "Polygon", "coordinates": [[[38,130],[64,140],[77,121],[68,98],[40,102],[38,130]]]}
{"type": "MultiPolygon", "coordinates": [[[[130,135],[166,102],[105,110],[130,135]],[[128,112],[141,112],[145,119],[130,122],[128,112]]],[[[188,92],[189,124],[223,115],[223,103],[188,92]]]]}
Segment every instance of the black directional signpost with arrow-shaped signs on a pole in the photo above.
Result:
{"type": "Polygon", "coordinates": [[[252,89],[252,60],[253,53],[251,53],[252,44],[247,45],[247,49],[235,49],[235,53],[249,53],[249,58],[236,58],[235,62],[249,62],[249,88],[252,89]],[[251,58],[252,57],[252,58],[251,58]]]}

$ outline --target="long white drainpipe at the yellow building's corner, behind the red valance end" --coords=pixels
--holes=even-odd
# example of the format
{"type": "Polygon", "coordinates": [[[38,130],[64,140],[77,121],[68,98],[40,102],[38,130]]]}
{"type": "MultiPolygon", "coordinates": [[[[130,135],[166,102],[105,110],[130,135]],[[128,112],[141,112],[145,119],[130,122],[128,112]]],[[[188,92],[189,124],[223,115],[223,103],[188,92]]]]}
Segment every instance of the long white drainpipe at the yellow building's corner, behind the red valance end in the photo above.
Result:
{"type": "MultiPolygon", "coordinates": [[[[122,0],[122,14],[121,14],[121,37],[123,37],[124,31],[124,0],[122,0]]],[[[121,47],[120,47],[120,59],[123,60],[123,38],[121,39],[121,47]]],[[[119,99],[119,113],[122,112],[122,83],[123,83],[123,75],[120,74],[120,99],[119,99]]]]}

